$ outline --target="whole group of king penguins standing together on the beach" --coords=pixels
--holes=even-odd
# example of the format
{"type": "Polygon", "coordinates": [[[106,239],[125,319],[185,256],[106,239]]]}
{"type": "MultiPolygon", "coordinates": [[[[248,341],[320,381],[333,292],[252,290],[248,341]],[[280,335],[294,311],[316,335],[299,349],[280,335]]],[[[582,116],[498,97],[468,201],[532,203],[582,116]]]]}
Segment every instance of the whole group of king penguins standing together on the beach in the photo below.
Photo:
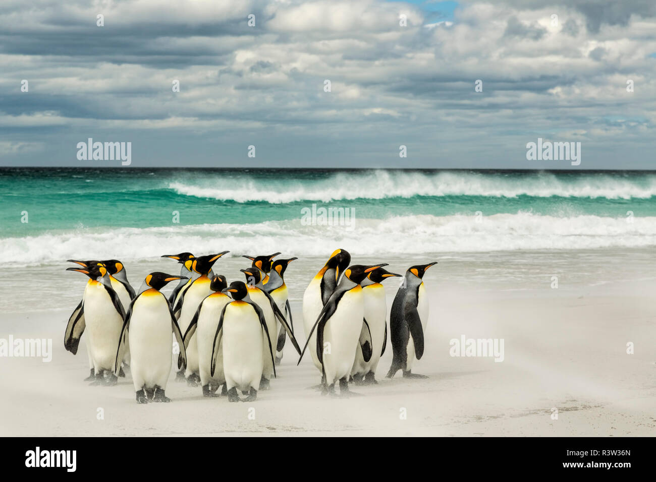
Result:
{"type": "MultiPolygon", "coordinates": [[[[79,267],[67,270],[89,277],[64,334],[64,348],[75,355],[87,333],[90,374],[85,381],[112,386],[129,367],[137,403],[169,402],[165,390],[176,354],[176,380],[200,384],[205,397],[253,401],[258,390],[270,388],[289,338],[300,355],[298,363],[311,346],[314,365],[321,372],[321,393],[335,395],[337,382],[340,396],[351,393],[349,382],[377,383],[375,372],[388,336],[381,283],[401,275],[384,270],[386,263],[350,265],[350,254],[337,249],[304,292],[308,339],[301,350],[284,280],[287,266],[297,258],[274,260],[279,252],[243,256],[251,261],[249,268],[240,270],[246,282],[228,285],[225,276],[213,272],[226,253],[165,254],[163,258],[181,265],[180,274],[154,271],[136,292],[119,260],[68,260],[79,267]],[[161,289],[171,281],[178,283],[167,298],[161,289]],[[173,349],[171,332],[176,340],[173,349]]],[[[428,321],[422,277],[434,264],[409,268],[394,298],[388,378],[399,370],[405,378],[423,378],[411,369],[422,357],[428,321]]]]}

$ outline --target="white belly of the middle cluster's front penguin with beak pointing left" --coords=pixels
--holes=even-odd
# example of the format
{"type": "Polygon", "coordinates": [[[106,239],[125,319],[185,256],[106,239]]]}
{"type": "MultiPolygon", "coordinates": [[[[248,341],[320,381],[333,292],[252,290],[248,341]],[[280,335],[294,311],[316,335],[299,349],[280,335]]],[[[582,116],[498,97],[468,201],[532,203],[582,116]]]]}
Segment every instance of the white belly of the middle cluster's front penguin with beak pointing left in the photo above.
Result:
{"type": "Polygon", "coordinates": [[[251,306],[233,302],[226,308],[222,344],[228,390],[233,387],[242,391],[258,390],[264,367],[262,325],[251,306]]]}

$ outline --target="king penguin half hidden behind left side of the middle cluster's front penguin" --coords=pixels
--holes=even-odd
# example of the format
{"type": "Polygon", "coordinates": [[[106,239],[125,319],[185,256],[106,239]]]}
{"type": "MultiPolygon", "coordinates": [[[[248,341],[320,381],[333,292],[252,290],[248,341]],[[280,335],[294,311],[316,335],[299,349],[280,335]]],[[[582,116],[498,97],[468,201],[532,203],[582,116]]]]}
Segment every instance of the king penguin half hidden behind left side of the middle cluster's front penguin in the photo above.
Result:
{"type": "MultiPolygon", "coordinates": [[[[226,304],[232,301],[230,296],[222,292],[227,287],[228,283],[226,283],[226,277],[215,275],[210,284],[210,289],[213,292],[198,306],[198,309],[184,334],[184,346],[188,346],[189,341],[195,333],[198,347],[198,369],[204,397],[218,397],[219,395],[216,395],[215,393],[216,388],[224,385],[226,382],[226,377],[223,374],[222,345],[218,346],[214,376],[211,375],[211,367],[214,335],[216,334],[216,327],[218,327],[218,320],[221,317],[223,308],[226,304]]],[[[227,392],[222,393],[222,395],[226,394],[227,392]]]]}

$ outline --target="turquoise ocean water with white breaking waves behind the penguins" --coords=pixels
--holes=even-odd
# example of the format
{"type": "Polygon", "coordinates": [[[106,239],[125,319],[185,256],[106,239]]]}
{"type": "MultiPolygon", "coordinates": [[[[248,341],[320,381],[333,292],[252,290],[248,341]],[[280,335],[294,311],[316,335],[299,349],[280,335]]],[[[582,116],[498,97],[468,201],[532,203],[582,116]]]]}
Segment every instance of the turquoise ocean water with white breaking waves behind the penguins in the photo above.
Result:
{"type": "Polygon", "coordinates": [[[316,256],[335,243],[362,254],[656,245],[656,172],[7,168],[0,200],[0,263],[108,243],[127,259],[217,243],[316,256]],[[304,224],[313,204],[350,210],[348,226],[304,224]]]}

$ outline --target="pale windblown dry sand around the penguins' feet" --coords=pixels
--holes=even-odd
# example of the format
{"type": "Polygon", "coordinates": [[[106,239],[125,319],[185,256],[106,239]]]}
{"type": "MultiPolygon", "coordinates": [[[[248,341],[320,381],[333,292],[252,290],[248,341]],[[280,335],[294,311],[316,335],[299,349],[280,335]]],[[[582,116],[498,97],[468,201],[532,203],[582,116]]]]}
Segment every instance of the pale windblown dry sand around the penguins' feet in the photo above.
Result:
{"type": "MultiPolygon", "coordinates": [[[[62,338],[70,310],[10,315],[0,338],[51,336],[51,363],[0,359],[0,435],[654,435],[656,427],[656,283],[580,289],[485,292],[428,285],[426,350],[414,371],[426,380],[386,380],[359,397],[322,397],[310,357],[296,366],[285,347],[279,378],[254,403],[208,399],[171,381],[172,403],[137,405],[131,380],[96,387],[85,347],[62,338]],[[504,338],[502,363],[449,356],[449,340],[504,338]],[[635,354],[626,354],[634,342],[635,354]],[[98,420],[98,408],[104,420],[98,420]],[[249,409],[255,408],[255,420],[249,409]],[[558,420],[551,409],[558,408],[558,420]],[[401,409],[407,419],[400,420],[401,409]]],[[[396,290],[388,287],[388,306],[396,290]]],[[[302,288],[295,289],[295,296],[302,288]]],[[[72,310],[73,306],[71,307],[72,310]]],[[[302,331],[300,304],[295,304],[302,331]]],[[[302,335],[301,335],[302,338],[302,335]]],[[[83,337],[84,340],[84,337],[83,337]]],[[[400,377],[400,373],[398,374],[400,377]]]]}

